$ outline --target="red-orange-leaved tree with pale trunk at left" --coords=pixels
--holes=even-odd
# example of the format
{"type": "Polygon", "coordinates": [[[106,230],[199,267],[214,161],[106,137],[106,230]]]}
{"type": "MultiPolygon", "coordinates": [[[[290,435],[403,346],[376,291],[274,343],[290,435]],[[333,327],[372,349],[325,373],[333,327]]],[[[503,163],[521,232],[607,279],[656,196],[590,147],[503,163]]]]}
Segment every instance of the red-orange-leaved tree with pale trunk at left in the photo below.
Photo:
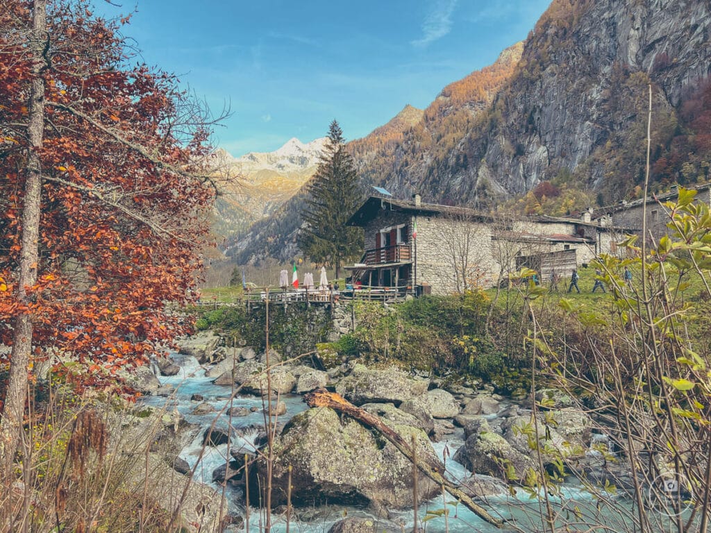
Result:
{"type": "MultiPolygon", "coordinates": [[[[85,0],[0,0],[0,458],[33,363],[120,384],[185,324],[215,186],[213,123],[171,75],[128,66],[122,23],[85,0]]],[[[127,390],[127,389],[126,389],[127,390]]]]}

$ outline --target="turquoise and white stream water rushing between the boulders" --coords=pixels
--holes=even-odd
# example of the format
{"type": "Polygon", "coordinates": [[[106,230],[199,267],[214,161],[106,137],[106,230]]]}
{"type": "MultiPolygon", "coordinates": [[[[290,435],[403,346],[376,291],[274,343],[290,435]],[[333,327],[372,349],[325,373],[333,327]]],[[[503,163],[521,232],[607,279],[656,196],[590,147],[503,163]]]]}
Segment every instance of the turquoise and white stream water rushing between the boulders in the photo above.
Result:
{"type": "MultiPolygon", "coordinates": [[[[167,412],[178,411],[186,421],[196,424],[199,430],[193,431],[193,438],[180,453],[181,458],[188,462],[191,468],[196,468],[196,480],[213,486],[215,490],[220,487],[212,483],[212,473],[215,468],[224,465],[227,461],[227,445],[203,447],[203,435],[205,429],[211,424],[220,428],[228,427],[228,416],[219,414],[229,407],[245,407],[250,409],[256,407],[258,410],[247,416],[233,417],[232,426],[235,428],[235,436],[232,438],[232,449],[242,449],[245,452],[255,450],[255,439],[259,436],[264,427],[264,414],[262,412],[262,399],[251,395],[238,395],[230,399],[232,390],[230,387],[213,384],[212,377],[205,376],[205,368],[198,364],[194,357],[173,354],[173,358],[181,365],[181,372],[176,376],[159,377],[161,384],[171,384],[176,390],[172,397],[145,397],[144,403],[154,407],[164,407],[167,412]],[[204,401],[215,408],[215,412],[210,414],[195,415],[191,411],[201,402],[191,402],[193,394],[201,394],[204,401]],[[204,448],[204,449],[203,449],[204,448]]],[[[301,396],[287,394],[280,398],[287,404],[287,414],[279,417],[279,421],[287,422],[295,414],[304,411],[307,407],[301,396]]],[[[432,443],[434,450],[440,458],[443,458],[447,465],[447,477],[458,483],[469,478],[471,473],[463,465],[451,459],[454,453],[464,443],[464,434],[458,429],[454,434],[446,439],[432,443]]],[[[242,500],[238,490],[227,489],[227,501],[230,511],[242,514],[243,507],[237,503],[242,500]]],[[[419,506],[418,525],[424,527],[427,532],[481,532],[489,533],[501,531],[491,524],[484,522],[474,515],[464,505],[454,505],[454,497],[447,494],[437,497],[419,506]],[[444,514],[447,514],[445,519],[444,514]]],[[[567,532],[588,532],[602,531],[599,527],[591,529],[589,524],[599,524],[604,526],[606,531],[626,532],[632,531],[634,509],[629,502],[613,497],[609,502],[595,500],[589,492],[584,490],[576,480],[562,485],[560,495],[550,496],[549,502],[552,512],[555,514],[556,527],[561,527],[567,532]]],[[[513,495],[488,497],[479,502],[491,513],[491,515],[505,519],[510,524],[508,530],[519,532],[542,532],[550,530],[545,524],[545,502],[542,495],[530,495],[524,490],[515,490],[513,495]]],[[[257,532],[260,529],[260,516],[256,510],[251,510],[250,531],[257,532]]],[[[352,507],[331,506],[319,508],[318,510],[294,510],[294,518],[290,522],[291,532],[300,533],[324,533],[328,532],[331,525],[342,519],[344,516],[370,517],[378,522],[378,517],[367,515],[362,510],[352,507]],[[299,515],[308,515],[305,520],[299,520],[299,515]]],[[[414,513],[412,510],[402,512],[390,512],[390,521],[402,524],[405,531],[412,531],[414,525],[414,513]]],[[[663,532],[669,529],[669,521],[663,516],[658,518],[658,530],[663,532]]],[[[273,531],[285,532],[287,527],[282,516],[274,515],[273,531]]],[[[262,517],[263,522],[263,517],[262,517]]]]}

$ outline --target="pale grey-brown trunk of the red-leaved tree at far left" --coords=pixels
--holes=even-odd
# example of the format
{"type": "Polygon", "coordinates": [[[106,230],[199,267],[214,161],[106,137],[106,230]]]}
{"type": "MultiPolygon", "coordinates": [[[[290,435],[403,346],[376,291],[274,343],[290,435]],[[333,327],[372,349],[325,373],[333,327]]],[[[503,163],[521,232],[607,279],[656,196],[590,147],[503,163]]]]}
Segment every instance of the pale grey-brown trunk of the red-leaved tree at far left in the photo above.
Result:
{"type": "MultiPolygon", "coordinates": [[[[37,283],[38,241],[41,211],[42,168],[38,149],[42,147],[44,128],[45,86],[43,48],[47,38],[46,0],[34,0],[31,47],[34,55],[34,79],[28,117],[28,154],[22,208],[22,239],[18,301],[29,301],[26,288],[37,283]]],[[[11,352],[10,377],[0,423],[0,461],[9,474],[18,448],[27,397],[29,361],[32,351],[33,324],[30,313],[20,312],[15,318],[11,352]]],[[[6,477],[6,479],[9,479],[6,477]]]]}

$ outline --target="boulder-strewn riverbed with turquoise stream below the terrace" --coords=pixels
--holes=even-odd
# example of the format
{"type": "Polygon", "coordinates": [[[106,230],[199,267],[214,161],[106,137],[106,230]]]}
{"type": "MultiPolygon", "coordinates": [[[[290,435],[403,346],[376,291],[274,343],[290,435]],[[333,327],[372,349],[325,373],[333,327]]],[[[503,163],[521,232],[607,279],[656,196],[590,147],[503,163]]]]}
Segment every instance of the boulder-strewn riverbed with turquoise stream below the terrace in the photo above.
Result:
{"type": "MultiPolygon", "coordinates": [[[[230,516],[226,531],[243,526],[250,486],[250,527],[257,531],[264,520],[257,487],[264,484],[267,465],[257,458],[245,476],[244,463],[245,455],[250,460],[259,456],[266,442],[267,354],[220,347],[220,339],[209,333],[184,340],[180,351],[140,373],[144,403],[164,409],[176,428],[178,421],[183,428],[182,445],[171,460],[174,470],[183,475],[194,470],[193,479],[213,488],[215,501],[224,485],[230,516]]],[[[269,365],[277,365],[270,379],[272,423],[277,425],[272,497],[277,531],[284,529],[287,497],[299,531],[411,530],[416,502],[428,531],[497,530],[419,473],[415,492],[412,464],[376,431],[331,409],[308,409],[301,394],[321,387],[415,441],[420,458],[439,463],[447,478],[492,515],[530,524],[531,531],[540,524],[538,499],[517,487],[536,469],[535,443],[545,468],[562,459],[598,480],[606,476],[599,468],[601,454],[591,449],[604,436],[594,434],[592,420],[555,390],[540,391],[547,410],[534,424],[525,402],[493,394],[491,387],[448,386],[392,365],[348,362],[323,371],[283,361],[274,351],[269,365]]],[[[563,495],[577,505],[589,500],[575,480],[564,485],[563,495]]]]}

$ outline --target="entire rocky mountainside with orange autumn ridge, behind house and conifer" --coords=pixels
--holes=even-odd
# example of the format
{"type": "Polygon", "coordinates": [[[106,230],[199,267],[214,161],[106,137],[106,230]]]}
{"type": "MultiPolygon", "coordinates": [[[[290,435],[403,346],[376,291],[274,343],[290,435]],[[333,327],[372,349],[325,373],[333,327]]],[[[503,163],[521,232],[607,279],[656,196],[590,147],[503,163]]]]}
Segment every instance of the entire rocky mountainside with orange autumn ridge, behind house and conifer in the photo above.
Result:
{"type": "MultiPolygon", "coordinates": [[[[648,85],[653,179],[707,180],[710,25],[708,0],[554,0],[494,65],[445,87],[421,114],[406,107],[395,133],[386,125],[353,141],[363,181],[480,207],[574,182],[615,202],[643,179],[648,85]]],[[[250,228],[237,261],[293,257],[284,244],[298,211],[295,198],[250,228]]]]}

